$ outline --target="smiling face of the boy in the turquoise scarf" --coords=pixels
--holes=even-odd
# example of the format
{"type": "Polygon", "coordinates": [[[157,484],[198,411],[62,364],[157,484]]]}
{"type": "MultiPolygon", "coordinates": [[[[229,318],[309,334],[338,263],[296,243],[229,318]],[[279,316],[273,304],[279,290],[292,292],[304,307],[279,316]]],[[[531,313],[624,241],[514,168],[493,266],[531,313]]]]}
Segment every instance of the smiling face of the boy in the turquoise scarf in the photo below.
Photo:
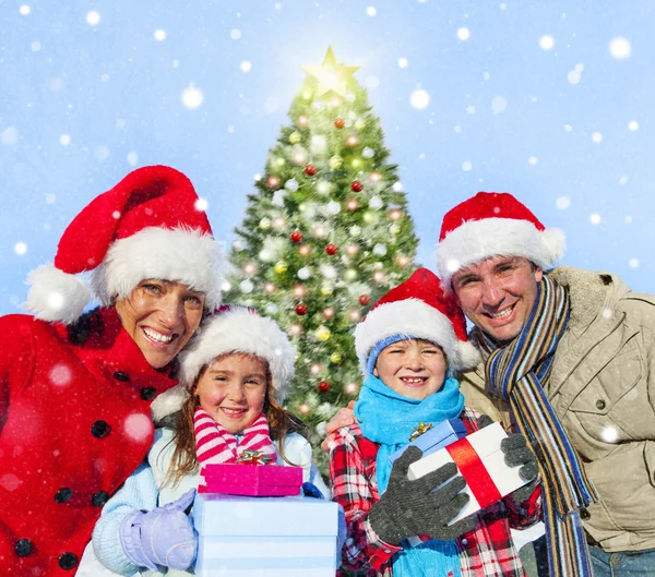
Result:
{"type": "Polygon", "coordinates": [[[412,338],[384,348],[373,374],[398,395],[422,400],[441,389],[446,370],[441,347],[429,340],[412,338]]]}

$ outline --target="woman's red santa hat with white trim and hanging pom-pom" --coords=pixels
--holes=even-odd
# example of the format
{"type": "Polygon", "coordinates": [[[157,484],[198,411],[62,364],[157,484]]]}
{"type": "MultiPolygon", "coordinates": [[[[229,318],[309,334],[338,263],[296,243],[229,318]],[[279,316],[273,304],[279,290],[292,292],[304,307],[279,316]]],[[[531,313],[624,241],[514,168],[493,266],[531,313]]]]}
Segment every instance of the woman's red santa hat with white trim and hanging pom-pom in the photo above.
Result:
{"type": "Polygon", "coordinates": [[[166,166],[130,172],[94,199],[64,230],[55,265],[29,274],[25,308],[45,321],[74,322],[90,301],[91,272],[103,305],[128,297],[146,278],[175,280],[221,303],[223,256],[191,181],[166,166]]]}

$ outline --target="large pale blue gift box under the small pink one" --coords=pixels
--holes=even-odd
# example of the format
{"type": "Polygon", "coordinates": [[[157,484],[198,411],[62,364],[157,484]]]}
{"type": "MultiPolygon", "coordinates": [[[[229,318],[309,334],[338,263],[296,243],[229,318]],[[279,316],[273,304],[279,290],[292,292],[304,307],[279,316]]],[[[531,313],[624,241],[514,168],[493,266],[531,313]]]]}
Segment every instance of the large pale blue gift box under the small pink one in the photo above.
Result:
{"type": "Polygon", "coordinates": [[[334,577],[338,507],[305,496],[201,493],[193,506],[195,575],[334,577]]]}

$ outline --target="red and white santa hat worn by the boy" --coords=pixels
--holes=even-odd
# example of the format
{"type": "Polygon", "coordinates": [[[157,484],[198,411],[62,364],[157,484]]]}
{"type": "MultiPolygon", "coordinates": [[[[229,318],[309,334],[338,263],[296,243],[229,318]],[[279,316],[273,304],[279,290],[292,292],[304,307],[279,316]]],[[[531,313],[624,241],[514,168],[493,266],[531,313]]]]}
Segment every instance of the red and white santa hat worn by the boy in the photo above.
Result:
{"type": "Polygon", "coordinates": [[[444,297],[439,278],[427,268],[418,268],[391,289],[355,327],[355,349],[364,373],[372,374],[385,347],[409,338],[439,345],[451,372],[479,362],[479,352],[466,338],[464,313],[452,298],[444,297]]]}

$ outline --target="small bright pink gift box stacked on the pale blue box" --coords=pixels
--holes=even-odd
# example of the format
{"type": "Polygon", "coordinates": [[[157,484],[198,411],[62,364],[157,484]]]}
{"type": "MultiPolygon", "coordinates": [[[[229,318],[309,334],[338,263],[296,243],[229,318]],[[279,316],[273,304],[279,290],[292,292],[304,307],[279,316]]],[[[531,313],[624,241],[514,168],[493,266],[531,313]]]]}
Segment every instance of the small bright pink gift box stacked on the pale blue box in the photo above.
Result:
{"type": "Polygon", "coordinates": [[[302,467],[278,465],[206,465],[199,493],[277,497],[299,495],[302,467]]]}

